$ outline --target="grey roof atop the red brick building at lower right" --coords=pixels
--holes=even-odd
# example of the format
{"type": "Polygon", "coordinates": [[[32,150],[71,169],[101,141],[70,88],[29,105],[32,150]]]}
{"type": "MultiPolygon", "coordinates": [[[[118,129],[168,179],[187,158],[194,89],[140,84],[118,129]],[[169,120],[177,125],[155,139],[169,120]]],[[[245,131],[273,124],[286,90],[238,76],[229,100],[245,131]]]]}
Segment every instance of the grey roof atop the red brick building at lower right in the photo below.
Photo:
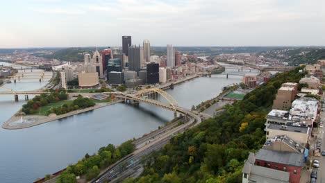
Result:
{"type": "Polygon", "coordinates": [[[256,154],[256,159],[298,167],[304,164],[304,155],[302,153],[288,153],[276,150],[260,149],[256,154]]]}

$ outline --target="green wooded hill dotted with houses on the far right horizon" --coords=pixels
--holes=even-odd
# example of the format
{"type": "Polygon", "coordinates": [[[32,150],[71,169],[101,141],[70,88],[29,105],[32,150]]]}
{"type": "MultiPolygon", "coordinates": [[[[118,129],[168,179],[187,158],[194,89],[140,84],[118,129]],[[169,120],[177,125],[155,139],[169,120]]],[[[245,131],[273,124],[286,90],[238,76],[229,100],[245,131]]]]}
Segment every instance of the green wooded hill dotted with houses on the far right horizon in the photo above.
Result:
{"type": "Polygon", "coordinates": [[[325,59],[325,49],[316,47],[274,49],[272,51],[263,51],[258,53],[265,58],[274,58],[288,62],[290,65],[314,64],[319,59],[325,59]]]}

